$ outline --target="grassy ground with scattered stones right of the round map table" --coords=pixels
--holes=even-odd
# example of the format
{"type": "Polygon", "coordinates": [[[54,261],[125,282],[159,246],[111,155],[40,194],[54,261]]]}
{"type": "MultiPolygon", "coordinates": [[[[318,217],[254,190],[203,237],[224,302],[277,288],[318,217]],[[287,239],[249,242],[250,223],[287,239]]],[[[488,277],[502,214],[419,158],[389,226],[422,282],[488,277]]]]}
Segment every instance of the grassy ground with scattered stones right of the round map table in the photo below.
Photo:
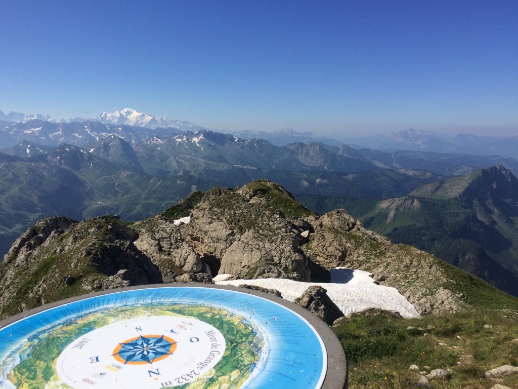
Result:
{"type": "MultiPolygon", "coordinates": [[[[353,314],[333,327],[347,353],[349,388],[415,388],[418,376],[408,371],[418,365],[451,369],[448,380],[430,381],[428,388],[487,389],[494,382],[487,370],[518,365],[518,315],[478,309],[423,318],[395,318],[387,314],[353,314]],[[492,328],[484,328],[490,324],[492,328]],[[408,330],[409,326],[416,327],[408,330]],[[425,335],[427,334],[427,335],[425,335]]],[[[501,382],[518,386],[518,374],[501,382]]]]}

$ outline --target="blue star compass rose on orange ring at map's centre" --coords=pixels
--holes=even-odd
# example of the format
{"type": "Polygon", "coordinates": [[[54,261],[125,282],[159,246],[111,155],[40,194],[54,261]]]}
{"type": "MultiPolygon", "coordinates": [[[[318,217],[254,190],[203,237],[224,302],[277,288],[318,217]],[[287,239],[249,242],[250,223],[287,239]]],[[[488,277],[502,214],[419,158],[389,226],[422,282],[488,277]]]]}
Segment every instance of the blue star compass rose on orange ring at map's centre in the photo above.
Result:
{"type": "Polygon", "coordinates": [[[119,343],[112,356],[124,365],[152,364],[172,355],[176,344],[164,335],[140,335],[119,343]]]}

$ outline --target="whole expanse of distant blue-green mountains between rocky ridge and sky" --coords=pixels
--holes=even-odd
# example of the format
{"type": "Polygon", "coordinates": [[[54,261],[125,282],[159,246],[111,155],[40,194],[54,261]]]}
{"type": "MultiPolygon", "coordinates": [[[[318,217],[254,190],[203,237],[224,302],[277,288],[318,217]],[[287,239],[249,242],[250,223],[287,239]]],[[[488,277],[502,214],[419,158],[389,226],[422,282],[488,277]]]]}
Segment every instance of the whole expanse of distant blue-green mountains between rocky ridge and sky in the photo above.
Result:
{"type": "Polygon", "coordinates": [[[277,146],[208,129],[130,126],[122,123],[127,118],[154,120],[124,109],[104,115],[112,123],[2,123],[0,139],[14,143],[0,150],[0,255],[44,217],[139,220],[193,190],[267,178],[320,214],[347,209],[394,242],[426,249],[518,295],[514,158],[277,146]]]}

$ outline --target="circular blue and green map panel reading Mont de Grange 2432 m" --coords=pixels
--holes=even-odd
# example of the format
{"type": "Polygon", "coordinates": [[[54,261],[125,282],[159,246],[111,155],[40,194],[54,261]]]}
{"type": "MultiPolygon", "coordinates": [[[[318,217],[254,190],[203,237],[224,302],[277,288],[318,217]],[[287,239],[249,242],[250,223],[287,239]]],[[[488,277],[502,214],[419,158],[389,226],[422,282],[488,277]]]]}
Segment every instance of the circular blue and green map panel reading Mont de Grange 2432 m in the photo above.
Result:
{"type": "Polygon", "coordinates": [[[0,329],[0,388],[319,388],[326,370],[303,317],[222,288],[104,293],[0,329]]]}

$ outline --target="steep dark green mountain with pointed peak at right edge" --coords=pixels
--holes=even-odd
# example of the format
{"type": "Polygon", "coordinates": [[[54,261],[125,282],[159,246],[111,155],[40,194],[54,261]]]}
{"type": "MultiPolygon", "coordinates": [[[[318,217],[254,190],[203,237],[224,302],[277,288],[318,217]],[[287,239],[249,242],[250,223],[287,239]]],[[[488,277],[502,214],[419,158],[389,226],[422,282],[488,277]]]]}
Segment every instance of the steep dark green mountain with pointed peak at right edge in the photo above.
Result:
{"type": "Polygon", "coordinates": [[[378,202],[361,218],[518,296],[518,180],[502,166],[378,202]]]}

